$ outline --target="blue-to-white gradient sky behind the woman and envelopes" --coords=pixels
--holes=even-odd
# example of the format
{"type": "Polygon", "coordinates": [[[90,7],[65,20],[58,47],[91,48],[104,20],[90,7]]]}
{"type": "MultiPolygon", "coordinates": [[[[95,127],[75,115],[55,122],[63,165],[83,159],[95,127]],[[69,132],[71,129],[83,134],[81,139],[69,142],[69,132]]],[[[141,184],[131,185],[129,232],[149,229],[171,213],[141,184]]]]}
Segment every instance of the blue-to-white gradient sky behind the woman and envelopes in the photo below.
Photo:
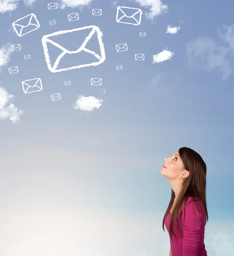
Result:
{"type": "Polygon", "coordinates": [[[169,255],[162,218],[171,189],[160,169],[183,146],[207,165],[208,256],[234,255],[233,1],[58,0],[48,10],[51,2],[0,0],[0,87],[23,111],[20,122],[0,119],[0,255],[169,255]],[[7,12],[3,2],[13,4],[7,12]],[[141,8],[142,23],[117,23],[117,6],[141,8]],[[69,22],[74,12],[80,19],[69,22]],[[40,28],[18,37],[12,22],[30,13],[40,28]],[[51,73],[42,36],[90,25],[103,32],[106,61],[51,73]],[[168,25],[181,29],[170,35],[168,25]],[[121,43],[127,52],[116,52],[121,43]],[[164,49],[174,56],[153,64],[164,49]],[[19,73],[10,75],[13,66],[19,73]],[[43,90],[23,93],[21,81],[36,77],[43,90]],[[91,86],[92,77],[102,85],[91,86]],[[52,102],[54,93],[61,100],[52,102]],[[75,110],[80,95],[101,107],[75,110]]]}

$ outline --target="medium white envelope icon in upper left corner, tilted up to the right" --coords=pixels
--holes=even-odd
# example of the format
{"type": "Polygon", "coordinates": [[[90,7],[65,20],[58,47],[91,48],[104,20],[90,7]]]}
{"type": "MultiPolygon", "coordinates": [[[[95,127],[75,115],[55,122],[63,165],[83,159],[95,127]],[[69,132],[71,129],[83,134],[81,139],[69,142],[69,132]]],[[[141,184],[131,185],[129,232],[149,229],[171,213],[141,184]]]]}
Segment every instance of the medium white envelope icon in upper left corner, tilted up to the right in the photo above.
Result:
{"type": "Polygon", "coordinates": [[[37,16],[34,13],[14,21],[12,26],[20,37],[40,28],[37,16]]]}

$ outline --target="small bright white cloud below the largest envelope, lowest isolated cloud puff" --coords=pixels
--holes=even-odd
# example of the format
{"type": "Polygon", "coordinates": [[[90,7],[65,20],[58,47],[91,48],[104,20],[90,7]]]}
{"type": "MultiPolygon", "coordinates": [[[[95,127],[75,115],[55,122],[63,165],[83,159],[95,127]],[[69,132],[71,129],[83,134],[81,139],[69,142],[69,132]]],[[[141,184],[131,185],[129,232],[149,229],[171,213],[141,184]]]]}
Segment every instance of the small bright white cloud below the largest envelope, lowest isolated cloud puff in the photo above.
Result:
{"type": "Polygon", "coordinates": [[[80,109],[82,111],[93,111],[101,107],[103,100],[96,99],[94,96],[79,96],[78,100],[74,103],[73,107],[75,109],[80,109]]]}

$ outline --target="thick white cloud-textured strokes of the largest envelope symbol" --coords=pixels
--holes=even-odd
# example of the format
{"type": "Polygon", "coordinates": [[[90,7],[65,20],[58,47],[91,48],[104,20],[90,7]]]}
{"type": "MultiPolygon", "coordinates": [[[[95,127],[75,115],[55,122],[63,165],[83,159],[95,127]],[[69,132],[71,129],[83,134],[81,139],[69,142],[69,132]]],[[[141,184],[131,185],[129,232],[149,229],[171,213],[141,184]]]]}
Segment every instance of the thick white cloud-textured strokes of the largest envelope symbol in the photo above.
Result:
{"type": "MultiPolygon", "coordinates": [[[[54,33],[49,34],[49,35],[44,35],[42,37],[41,41],[42,41],[42,45],[43,45],[44,54],[45,54],[45,57],[46,57],[46,63],[47,63],[48,69],[52,73],[66,71],[66,70],[72,70],[72,69],[81,68],[81,67],[97,66],[97,65],[103,63],[105,61],[105,59],[106,59],[104,44],[102,42],[102,32],[98,28],[98,26],[84,26],[84,27],[81,27],[81,28],[78,28],[78,29],[71,29],[71,30],[64,30],[64,31],[54,32],[54,33]],[[65,47],[63,47],[60,44],[57,44],[55,42],[56,41],[56,35],[62,35],[62,34],[66,35],[66,33],[74,33],[74,36],[79,36],[79,32],[81,30],[84,30],[84,29],[92,29],[92,30],[91,30],[90,34],[84,39],[83,44],[78,45],[78,47],[77,47],[78,49],[75,50],[75,51],[69,51],[65,47]],[[87,45],[88,41],[92,38],[93,35],[97,35],[101,56],[99,54],[97,54],[96,52],[86,48],[86,45],[87,45]],[[51,64],[51,60],[50,60],[50,56],[49,56],[49,50],[48,50],[48,47],[47,47],[48,43],[58,47],[59,49],[61,49],[63,51],[58,56],[58,58],[55,60],[55,63],[53,65],[51,64]],[[57,69],[58,65],[59,65],[59,62],[64,57],[64,55],[66,55],[66,54],[73,54],[74,57],[75,57],[74,59],[76,60],[76,59],[79,58],[79,52],[87,52],[89,54],[92,54],[92,55],[94,55],[98,59],[98,61],[97,62],[88,63],[88,64],[80,64],[80,65],[77,65],[77,66],[57,69]]],[[[82,55],[82,57],[83,57],[83,55],[82,55]]]]}

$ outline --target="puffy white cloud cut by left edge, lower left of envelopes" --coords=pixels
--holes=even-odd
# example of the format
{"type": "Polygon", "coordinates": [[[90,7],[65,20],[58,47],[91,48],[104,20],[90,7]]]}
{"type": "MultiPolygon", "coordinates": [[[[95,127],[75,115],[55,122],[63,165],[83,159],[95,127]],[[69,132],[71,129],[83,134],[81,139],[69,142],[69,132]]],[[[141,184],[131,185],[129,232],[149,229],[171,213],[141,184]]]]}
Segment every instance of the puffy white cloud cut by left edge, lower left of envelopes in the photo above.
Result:
{"type": "Polygon", "coordinates": [[[0,87],[0,119],[9,119],[13,123],[20,121],[20,115],[23,111],[18,110],[14,104],[10,103],[14,99],[5,88],[0,87]]]}

